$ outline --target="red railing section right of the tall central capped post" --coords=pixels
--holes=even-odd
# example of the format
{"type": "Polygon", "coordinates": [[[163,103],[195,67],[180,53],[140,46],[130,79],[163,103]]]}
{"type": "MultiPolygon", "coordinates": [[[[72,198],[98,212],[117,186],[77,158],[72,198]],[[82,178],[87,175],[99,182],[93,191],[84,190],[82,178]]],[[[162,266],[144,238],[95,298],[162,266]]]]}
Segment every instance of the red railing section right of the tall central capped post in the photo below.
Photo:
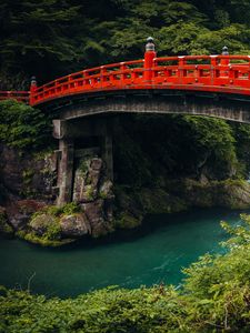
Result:
{"type": "Polygon", "coordinates": [[[153,60],[153,84],[199,84],[250,89],[249,56],[186,56],[153,60]]]}

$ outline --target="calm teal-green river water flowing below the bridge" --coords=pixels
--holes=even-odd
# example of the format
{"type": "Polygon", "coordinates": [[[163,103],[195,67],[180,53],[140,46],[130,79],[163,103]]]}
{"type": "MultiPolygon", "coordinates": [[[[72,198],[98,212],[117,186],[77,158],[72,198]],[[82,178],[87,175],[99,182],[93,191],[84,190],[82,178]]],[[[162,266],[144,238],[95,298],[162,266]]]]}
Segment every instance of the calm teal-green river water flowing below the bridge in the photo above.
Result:
{"type": "Polygon", "coordinates": [[[108,285],[180,284],[181,269],[200,255],[224,251],[220,221],[239,222],[239,211],[196,210],[148,216],[143,228],[104,240],[43,249],[0,240],[0,284],[47,296],[76,296],[108,285]],[[32,279],[31,279],[32,276],[32,279]],[[30,283],[29,283],[30,280],[30,283]]]}

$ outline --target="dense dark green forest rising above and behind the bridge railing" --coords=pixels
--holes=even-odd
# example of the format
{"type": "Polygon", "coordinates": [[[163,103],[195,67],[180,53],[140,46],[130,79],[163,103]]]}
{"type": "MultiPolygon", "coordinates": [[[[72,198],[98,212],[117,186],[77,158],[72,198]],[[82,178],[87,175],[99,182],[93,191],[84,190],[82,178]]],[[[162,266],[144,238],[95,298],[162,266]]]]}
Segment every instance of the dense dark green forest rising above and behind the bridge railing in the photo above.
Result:
{"type": "Polygon", "coordinates": [[[247,0],[4,0],[0,87],[27,89],[58,75],[140,59],[148,36],[159,56],[250,52],[247,0]]]}

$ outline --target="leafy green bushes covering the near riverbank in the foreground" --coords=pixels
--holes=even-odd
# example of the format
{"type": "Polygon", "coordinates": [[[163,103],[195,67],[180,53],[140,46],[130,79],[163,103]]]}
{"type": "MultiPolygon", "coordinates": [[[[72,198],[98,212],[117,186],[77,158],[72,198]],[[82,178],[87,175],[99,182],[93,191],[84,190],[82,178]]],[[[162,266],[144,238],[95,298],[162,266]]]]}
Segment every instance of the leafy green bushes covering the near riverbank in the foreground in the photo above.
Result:
{"type": "MultiPolygon", "coordinates": [[[[48,332],[249,332],[250,218],[224,229],[232,238],[222,255],[204,255],[184,270],[182,286],[163,283],[136,290],[108,289],[76,299],[0,290],[0,327],[48,332]],[[240,233],[239,233],[240,232],[240,233]],[[98,317],[98,320],[97,320],[98,317]]],[[[193,240],[197,240],[193,239],[193,240]]],[[[192,241],[193,241],[192,240],[192,241]]],[[[182,243],[181,243],[182,245],[182,243]]]]}

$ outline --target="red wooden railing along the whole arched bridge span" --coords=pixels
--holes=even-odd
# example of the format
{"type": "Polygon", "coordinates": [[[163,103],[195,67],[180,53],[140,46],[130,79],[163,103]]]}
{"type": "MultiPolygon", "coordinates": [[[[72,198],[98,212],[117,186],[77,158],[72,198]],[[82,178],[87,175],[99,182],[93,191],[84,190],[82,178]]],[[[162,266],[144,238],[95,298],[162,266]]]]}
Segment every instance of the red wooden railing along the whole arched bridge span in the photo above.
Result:
{"type": "Polygon", "coordinates": [[[183,56],[154,58],[151,68],[144,60],[118,62],[79,71],[44,85],[30,94],[36,105],[53,99],[101,90],[197,89],[250,94],[249,56],[183,56]],[[150,80],[146,73],[150,71],[150,80]]]}

